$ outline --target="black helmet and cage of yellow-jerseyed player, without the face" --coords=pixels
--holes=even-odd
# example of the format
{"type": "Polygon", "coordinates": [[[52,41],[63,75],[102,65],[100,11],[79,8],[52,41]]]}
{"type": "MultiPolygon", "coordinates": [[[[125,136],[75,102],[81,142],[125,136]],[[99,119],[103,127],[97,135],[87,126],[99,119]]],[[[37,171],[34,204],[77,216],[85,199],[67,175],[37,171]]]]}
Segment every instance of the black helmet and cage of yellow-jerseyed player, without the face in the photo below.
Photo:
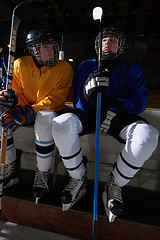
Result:
{"type": "Polygon", "coordinates": [[[34,56],[41,65],[54,66],[57,63],[59,57],[59,46],[53,35],[46,30],[34,29],[30,31],[26,37],[26,45],[29,53],[34,56]],[[46,62],[42,61],[39,54],[40,47],[44,44],[52,44],[54,52],[53,59],[46,62]]]}

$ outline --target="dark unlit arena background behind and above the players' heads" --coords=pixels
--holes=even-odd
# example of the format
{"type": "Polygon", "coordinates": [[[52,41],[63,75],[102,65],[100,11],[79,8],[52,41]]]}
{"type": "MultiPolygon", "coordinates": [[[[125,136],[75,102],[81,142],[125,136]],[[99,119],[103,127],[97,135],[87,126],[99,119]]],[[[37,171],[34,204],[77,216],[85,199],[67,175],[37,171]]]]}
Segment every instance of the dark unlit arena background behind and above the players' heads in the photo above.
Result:
{"type": "MultiPolygon", "coordinates": [[[[0,35],[9,44],[11,18],[20,0],[0,1],[0,35]]],[[[149,89],[160,89],[160,1],[159,0],[44,0],[44,9],[23,19],[18,28],[16,58],[26,55],[25,38],[33,28],[55,34],[65,60],[73,69],[95,57],[94,40],[99,23],[92,18],[93,8],[103,8],[103,26],[114,25],[126,35],[123,58],[137,63],[144,71],[149,89]]],[[[7,50],[8,51],[8,50],[7,50]]]]}

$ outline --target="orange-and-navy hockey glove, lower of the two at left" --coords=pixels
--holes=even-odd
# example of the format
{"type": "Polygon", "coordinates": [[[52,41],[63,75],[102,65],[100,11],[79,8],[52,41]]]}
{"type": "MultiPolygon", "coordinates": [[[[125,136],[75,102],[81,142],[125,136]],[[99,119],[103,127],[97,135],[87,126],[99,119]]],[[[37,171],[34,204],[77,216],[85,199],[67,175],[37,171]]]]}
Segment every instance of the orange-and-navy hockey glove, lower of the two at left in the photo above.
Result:
{"type": "Polygon", "coordinates": [[[1,114],[0,125],[5,129],[10,128],[15,131],[20,126],[31,123],[34,117],[35,112],[31,106],[17,106],[1,114]]]}

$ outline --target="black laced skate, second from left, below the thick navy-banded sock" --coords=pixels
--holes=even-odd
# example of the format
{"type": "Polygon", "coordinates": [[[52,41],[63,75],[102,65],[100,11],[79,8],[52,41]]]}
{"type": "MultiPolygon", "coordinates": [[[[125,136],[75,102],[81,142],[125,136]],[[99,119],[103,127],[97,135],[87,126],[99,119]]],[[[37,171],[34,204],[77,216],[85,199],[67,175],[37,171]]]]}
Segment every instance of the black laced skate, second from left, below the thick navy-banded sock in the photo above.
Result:
{"type": "Polygon", "coordinates": [[[38,169],[36,170],[34,184],[32,188],[32,195],[36,199],[36,204],[38,203],[40,198],[42,198],[49,192],[48,178],[49,171],[41,172],[38,169]]]}

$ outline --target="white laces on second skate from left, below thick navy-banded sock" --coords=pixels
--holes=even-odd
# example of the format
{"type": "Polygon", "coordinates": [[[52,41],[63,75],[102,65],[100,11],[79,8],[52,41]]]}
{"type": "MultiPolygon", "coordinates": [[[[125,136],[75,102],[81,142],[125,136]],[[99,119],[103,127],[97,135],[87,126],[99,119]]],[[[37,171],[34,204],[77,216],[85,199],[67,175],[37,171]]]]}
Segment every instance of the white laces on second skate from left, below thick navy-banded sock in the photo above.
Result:
{"type": "Polygon", "coordinates": [[[41,172],[39,170],[36,170],[33,187],[40,187],[40,188],[48,189],[48,184],[47,184],[48,178],[49,178],[49,172],[41,172]]]}

